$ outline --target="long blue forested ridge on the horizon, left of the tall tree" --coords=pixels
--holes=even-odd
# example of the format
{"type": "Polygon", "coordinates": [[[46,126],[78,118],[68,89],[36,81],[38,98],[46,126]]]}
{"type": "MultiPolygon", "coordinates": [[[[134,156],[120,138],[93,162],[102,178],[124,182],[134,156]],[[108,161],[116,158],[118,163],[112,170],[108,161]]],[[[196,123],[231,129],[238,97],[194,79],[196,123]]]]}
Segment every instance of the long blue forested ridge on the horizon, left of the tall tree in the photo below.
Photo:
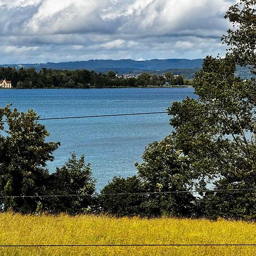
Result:
{"type": "Polygon", "coordinates": [[[203,59],[166,59],[166,60],[88,60],[88,61],[71,61],[61,63],[40,63],[40,64],[12,64],[0,65],[0,67],[13,66],[16,68],[42,68],[51,69],[88,69],[96,72],[115,71],[117,73],[129,73],[137,71],[164,71],[166,69],[191,69],[201,68],[203,59]]]}

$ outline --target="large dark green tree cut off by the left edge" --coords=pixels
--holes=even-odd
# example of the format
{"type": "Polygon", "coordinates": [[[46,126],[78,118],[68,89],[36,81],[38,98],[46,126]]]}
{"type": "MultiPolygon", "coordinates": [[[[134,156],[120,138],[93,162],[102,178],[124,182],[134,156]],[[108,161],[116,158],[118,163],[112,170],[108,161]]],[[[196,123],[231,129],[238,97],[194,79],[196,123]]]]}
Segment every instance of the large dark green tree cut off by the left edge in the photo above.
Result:
{"type": "Polygon", "coordinates": [[[0,109],[0,118],[0,195],[17,196],[1,199],[2,209],[34,212],[38,198],[26,196],[46,193],[46,163],[53,161],[52,152],[60,143],[45,141],[49,133],[34,110],[23,113],[9,105],[0,109]]]}

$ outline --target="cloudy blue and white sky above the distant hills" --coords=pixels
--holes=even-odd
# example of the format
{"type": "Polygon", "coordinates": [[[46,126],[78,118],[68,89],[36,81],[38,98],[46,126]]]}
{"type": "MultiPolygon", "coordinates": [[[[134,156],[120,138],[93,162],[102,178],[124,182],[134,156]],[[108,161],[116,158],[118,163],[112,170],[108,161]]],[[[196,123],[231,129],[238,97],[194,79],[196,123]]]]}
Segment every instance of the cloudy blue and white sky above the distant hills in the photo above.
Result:
{"type": "Polygon", "coordinates": [[[235,0],[0,0],[0,64],[225,55],[235,0]]]}

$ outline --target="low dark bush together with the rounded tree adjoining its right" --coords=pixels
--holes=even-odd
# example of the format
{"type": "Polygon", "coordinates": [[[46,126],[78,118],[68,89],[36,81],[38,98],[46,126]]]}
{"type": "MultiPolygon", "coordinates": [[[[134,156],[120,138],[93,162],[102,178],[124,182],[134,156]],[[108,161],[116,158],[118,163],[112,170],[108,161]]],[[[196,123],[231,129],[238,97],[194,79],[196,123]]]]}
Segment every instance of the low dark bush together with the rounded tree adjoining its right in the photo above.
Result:
{"type": "Polygon", "coordinates": [[[195,216],[197,201],[190,193],[164,193],[188,191],[192,185],[188,159],[175,150],[173,139],[170,136],[146,148],[143,162],[135,164],[138,176],[114,177],[101,190],[104,212],[117,216],[195,216]]]}

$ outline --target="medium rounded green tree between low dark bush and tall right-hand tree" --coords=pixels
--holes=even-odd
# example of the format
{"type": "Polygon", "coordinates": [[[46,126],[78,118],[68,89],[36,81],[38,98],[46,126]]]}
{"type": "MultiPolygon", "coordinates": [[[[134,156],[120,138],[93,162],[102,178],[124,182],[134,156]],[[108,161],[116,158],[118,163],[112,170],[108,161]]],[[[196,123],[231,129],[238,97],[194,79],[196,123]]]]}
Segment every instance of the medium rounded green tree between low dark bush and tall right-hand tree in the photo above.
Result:
{"type": "Polygon", "coordinates": [[[141,206],[144,214],[151,217],[194,215],[196,198],[191,193],[164,193],[189,191],[193,185],[189,159],[182,150],[176,150],[175,138],[170,135],[149,144],[142,159],[143,162],[135,166],[144,191],[149,192],[141,206]]]}

